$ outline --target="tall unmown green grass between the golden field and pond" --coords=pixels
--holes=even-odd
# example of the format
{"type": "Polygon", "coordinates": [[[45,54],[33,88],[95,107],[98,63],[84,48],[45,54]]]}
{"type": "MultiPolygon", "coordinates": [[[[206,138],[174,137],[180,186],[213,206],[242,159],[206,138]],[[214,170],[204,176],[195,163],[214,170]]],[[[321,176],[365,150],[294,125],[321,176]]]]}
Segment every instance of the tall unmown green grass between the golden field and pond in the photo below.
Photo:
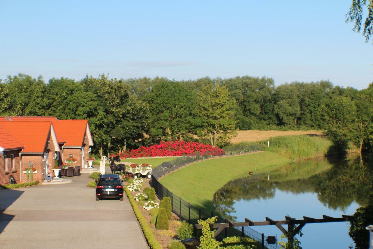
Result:
{"type": "Polygon", "coordinates": [[[261,144],[262,150],[272,151],[291,160],[307,160],[314,157],[325,156],[332,145],[326,138],[308,135],[276,136],[260,142],[241,142],[229,144],[226,151],[239,151],[243,148],[261,144]],[[267,147],[269,141],[269,147],[267,147]]]}

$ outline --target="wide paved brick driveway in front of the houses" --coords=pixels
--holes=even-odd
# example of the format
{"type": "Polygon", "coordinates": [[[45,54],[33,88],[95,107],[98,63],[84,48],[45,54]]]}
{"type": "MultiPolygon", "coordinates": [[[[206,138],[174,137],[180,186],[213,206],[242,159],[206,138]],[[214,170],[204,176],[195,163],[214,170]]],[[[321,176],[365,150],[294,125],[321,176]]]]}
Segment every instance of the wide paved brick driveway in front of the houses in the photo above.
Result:
{"type": "Polygon", "coordinates": [[[148,248],[128,199],[96,202],[88,175],[1,190],[0,248],[148,248]]]}

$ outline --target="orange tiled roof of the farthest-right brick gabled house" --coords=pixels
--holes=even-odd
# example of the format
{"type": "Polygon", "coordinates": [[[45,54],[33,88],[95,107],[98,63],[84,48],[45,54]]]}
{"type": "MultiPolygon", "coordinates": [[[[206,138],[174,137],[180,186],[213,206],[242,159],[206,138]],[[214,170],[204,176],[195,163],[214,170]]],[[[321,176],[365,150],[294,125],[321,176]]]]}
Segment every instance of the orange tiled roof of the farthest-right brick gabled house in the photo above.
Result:
{"type": "Polygon", "coordinates": [[[87,123],[87,119],[52,121],[54,131],[65,140],[65,146],[77,147],[83,145],[87,123]]]}

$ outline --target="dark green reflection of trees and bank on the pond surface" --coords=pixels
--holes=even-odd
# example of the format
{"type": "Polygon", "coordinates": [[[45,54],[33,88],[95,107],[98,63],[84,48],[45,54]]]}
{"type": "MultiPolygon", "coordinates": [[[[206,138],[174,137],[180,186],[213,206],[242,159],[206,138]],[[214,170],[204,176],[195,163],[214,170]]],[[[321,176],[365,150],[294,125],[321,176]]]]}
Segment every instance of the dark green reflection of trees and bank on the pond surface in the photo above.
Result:
{"type": "Polygon", "coordinates": [[[360,157],[291,163],[270,172],[270,181],[267,175],[253,175],[227,183],[214,194],[214,205],[225,218],[236,220],[236,201],[272,199],[278,189],[316,193],[325,207],[344,212],[352,202],[367,205],[373,182],[370,167],[360,157]]]}

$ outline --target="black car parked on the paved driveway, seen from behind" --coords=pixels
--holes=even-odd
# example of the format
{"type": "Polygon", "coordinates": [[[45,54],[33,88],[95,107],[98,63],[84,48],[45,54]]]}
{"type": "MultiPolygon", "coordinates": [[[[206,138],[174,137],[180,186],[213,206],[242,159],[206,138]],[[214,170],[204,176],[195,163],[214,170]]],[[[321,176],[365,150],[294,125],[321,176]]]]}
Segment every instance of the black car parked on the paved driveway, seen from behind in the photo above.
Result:
{"type": "Polygon", "coordinates": [[[123,200],[123,185],[119,175],[100,175],[96,180],[96,200],[101,198],[119,198],[123,200]]]}

